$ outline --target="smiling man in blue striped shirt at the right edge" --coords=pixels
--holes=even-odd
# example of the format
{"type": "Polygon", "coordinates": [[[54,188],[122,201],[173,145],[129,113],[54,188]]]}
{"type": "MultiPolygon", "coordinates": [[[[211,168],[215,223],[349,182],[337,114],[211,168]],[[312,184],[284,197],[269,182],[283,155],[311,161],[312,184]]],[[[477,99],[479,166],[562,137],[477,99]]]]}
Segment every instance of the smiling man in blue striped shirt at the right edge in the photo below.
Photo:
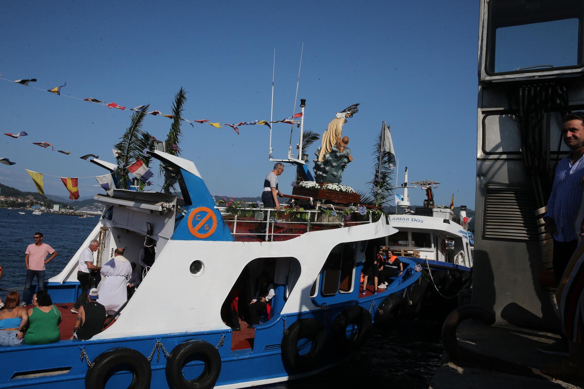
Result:
{"type": "Polygon", "coordinates": [[[570,154],[559,161],[555,169],[554,186],[544,217],[545,230],[554,235],[552,263],[558,284],[578,245],[575,218],[582,199],[581,183],[584,177],[584,112],[564,117],[562,136],[570,148],[570,154]]]}

